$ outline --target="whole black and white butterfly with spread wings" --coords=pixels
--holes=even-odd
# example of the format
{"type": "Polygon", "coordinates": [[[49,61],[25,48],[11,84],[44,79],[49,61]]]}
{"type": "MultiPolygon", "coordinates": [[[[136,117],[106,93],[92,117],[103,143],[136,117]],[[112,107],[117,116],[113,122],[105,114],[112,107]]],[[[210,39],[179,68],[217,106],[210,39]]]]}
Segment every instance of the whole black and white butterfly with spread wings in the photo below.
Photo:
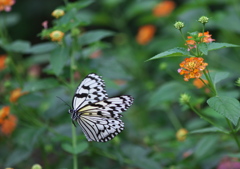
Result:
{"type": "Polygon", "coordinates": [[[78,86],[69,113],[88,141],[106,142],[124,129],[121,113],[132,103],[129,95],[108,98],[104,81],[91,73],[78,86]]]}

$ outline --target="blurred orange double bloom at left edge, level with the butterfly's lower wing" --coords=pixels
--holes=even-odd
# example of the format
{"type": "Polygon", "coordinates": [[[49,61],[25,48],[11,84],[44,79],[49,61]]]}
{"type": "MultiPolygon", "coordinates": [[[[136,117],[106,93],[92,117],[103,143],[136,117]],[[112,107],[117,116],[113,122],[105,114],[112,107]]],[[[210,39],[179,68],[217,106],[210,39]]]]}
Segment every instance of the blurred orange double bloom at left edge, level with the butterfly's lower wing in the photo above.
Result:
{"type": "Polygon", "coordinates": [[[10,114],[10,107],[5,106],[0,110],[0,130],[4,135],[10,135],[16,128],[17,118],[10,114]]]}

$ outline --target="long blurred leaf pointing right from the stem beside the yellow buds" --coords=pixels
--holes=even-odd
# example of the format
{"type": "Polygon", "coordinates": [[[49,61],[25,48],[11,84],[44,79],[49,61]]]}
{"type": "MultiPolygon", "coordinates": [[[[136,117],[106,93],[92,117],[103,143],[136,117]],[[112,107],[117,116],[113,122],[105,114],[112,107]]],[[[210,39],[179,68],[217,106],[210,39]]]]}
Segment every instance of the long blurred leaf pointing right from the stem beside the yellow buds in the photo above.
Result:
{"type": "Polygon", "coordinates": [[[80,45],[88,45],[93,42],[99,41],[103,38],[113,36],[114,32],[107,31],[107,30],[95,30],[95,31],[89,31],[78,39],[78,42],[80,45]]]}

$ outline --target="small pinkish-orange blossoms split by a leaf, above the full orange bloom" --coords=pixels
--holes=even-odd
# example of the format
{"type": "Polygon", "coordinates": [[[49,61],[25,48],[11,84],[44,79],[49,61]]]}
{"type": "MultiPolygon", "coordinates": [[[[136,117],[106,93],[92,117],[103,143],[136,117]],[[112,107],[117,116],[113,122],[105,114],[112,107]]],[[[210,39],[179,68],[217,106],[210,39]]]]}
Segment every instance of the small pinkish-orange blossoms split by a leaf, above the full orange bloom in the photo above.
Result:
{"type": "MultiPolygon", "coordinates": [[[[204,33],[198,33],[198,38],[200,38],[199,43],[210,43],[212,41],[215,41],[215,39],[212,39],[211,37],[212,35],[210,35],[208,31],[204,33]]],[[[196,40],[192,36],[188,36],[187,38],[188,40],[186,40],[185,45],[188,45],[188,50],[196,48],[196,40]]]]}

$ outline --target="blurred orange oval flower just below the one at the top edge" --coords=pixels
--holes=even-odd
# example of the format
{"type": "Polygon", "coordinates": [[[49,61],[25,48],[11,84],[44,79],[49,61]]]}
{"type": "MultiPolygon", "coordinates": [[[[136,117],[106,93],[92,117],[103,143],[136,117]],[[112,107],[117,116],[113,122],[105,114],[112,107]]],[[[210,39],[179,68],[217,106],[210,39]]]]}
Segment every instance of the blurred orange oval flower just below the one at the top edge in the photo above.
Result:
{"type": "Polygon", "coordinates": [[[156,28],[153,25],[145,25],[139,28],[136,40],[139,44],[145,45],[153,38],[156,28]]]}

